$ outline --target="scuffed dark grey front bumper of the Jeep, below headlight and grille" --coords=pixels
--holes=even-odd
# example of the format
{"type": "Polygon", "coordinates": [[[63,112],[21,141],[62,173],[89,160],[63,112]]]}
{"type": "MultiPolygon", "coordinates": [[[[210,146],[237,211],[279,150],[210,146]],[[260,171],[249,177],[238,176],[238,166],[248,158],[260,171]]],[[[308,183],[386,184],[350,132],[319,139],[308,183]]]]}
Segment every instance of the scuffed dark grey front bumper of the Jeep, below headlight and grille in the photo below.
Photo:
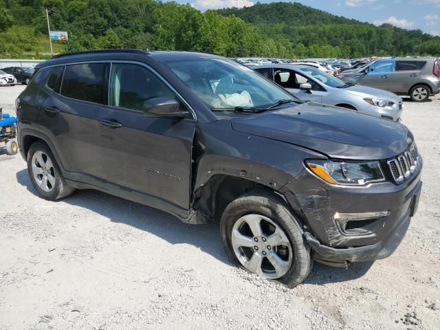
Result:
{"type": "Polygon", "coordinates": [[[299,181],[291,181],[285,187],[292,189],[285,196],[303,217],[305,240],[314,250],[315,259],[329,263],[373,261],[392,254],[408,230],[419,201],[420,175],[421,169],[399,185],[383,182],[342,187],[326,184],[307,172],[296,178],[299,181]],[[389,214],[372,219],[362,230],[355,228],[352,232],[342,228],[335,218],[337,212],[381,211],[389,214]]]}

